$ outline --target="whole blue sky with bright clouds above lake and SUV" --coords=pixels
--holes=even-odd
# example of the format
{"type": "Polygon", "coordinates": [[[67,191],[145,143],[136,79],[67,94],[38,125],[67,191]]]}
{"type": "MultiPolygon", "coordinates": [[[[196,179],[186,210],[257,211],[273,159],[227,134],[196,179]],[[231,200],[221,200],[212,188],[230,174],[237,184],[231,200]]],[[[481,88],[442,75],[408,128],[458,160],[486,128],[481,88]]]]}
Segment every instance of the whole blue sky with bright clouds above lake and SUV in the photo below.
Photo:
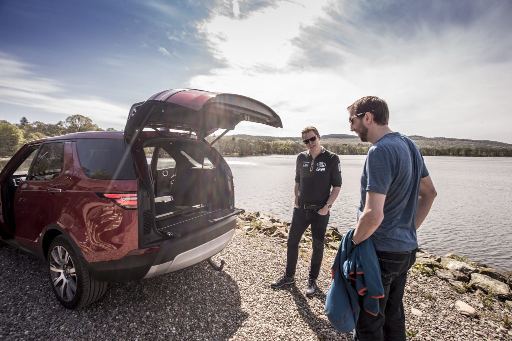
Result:
{"type": "MultiPolygon", "coordinates": [[[[378,96],[406,135],[512,143],[512,2],[1,0],[0,120],[87,116],[123,129],[172,88],[248,96],[283,129],[351,133],[378,96]]],[[[352,133],[353,134],[353,133],[352,133]]]]}

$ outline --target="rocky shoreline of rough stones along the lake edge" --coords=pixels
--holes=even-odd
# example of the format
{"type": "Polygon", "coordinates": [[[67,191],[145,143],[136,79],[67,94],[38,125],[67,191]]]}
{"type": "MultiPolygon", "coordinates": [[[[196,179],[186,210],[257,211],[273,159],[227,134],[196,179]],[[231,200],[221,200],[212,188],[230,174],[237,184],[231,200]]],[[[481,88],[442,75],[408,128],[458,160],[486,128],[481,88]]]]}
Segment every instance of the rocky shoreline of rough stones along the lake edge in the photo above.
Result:
{"type": "MultiPolygon", "coordinates": [[[[278,240],[285,251],[289,225],[286,221],[281,222],[280,219],[260,214],[260,212],[244,210],[237,216],[237,229],[240,229],[245,235],[257,234],[278,240]]],[[[323,263],[332,265],[342,238],[342,233],[339,233],[336,228],[328,226],[323,263]]],[[[310,229],[306,231],[301,240],[299,253],[299,258],[309,262],[311,256],[310,229]]],[[[420,282],[418,278],[426,278],[436,285],[447,285],[454,295],[455,293],[462,295],[462,299],[450,303],[450,311],[455,310],[467,319],[482,319],[482,317],[488,316],[489,311],[492,311],[501,316],[499,321],[495,319],[491,325],[492,329],[499,333],[492,339],[512,337],[512,271],[501,272],[487,267],[486,264],[472,262],[453,253],[442,257],[424,253],[420,248],[418,248],[416,257],[415,264],[409,270],[411,276],[408,276],[408,283],[422,287],[423,297],[426,295],[426,298],[430,299],[433,290],[429,285],[421,284],[423,280],[420,282]]],[[[429,308],[428,305],[421,307],[429,308]]],[[[412,313],[418,316],[424,314],[417,308],[409,309],[413,309],[412,313]]],[[[484,333],[478,335],[483,337],[484,333]]]]}

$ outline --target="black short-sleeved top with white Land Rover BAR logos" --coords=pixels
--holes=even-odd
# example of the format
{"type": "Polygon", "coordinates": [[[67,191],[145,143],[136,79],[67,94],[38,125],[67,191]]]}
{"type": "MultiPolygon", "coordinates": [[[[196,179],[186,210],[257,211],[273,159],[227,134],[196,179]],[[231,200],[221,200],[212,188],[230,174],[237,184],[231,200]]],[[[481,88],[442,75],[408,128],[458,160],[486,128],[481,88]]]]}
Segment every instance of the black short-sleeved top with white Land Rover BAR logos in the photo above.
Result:
{"type": "Polygon", "coordinates": [[[331,194],[331,186],[342,186],[342,168],[338,155],[326,149],[314,160],[309,151],[298,154],[295,182],[299,184],[298,199],[301,205],[325,204],[331,194]]]}

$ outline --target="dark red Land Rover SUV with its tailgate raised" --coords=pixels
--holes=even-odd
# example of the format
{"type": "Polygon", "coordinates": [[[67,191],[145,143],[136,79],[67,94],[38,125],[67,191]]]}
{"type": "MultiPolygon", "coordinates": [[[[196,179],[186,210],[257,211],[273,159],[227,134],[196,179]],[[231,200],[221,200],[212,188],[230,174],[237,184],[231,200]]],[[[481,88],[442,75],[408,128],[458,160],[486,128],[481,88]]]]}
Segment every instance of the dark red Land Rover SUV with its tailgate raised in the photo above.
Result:
{"type": "Polygon", "coordinates": [[[231,240],[240,211],[211,144],[244,120],[282,127],[248,97],[173,89],[134,104],[124,131],[29,142],[0,173],[0,237],[47,262],[70,309],[101,298],[108,282],[204,260],[215,267],[210,257],[231,240]]]}

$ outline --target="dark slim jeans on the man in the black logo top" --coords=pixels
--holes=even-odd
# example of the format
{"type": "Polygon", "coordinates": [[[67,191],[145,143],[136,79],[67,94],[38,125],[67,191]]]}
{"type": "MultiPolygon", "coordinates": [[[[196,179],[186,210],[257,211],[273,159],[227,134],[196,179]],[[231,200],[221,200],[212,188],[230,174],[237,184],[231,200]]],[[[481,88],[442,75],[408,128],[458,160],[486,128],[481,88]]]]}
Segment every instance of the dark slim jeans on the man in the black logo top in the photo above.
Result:
{"type": "Polygon", "coordinates": [[[320,265],[324,259],[324,239],[329,223],[330,213],[325,216],[319,215],[316,210],[306,210],[303,208],[293,208],[291,226],[288,234],[288,250],[286,258],[287,277],[295,275],[295,268],[298,259],[298,243],[301,242],[302,235],[311,224],[311,237],[313,237],[313,254],[311,256],[311,267],[309,268],[309,278],[318,278],[320,265]]]}

